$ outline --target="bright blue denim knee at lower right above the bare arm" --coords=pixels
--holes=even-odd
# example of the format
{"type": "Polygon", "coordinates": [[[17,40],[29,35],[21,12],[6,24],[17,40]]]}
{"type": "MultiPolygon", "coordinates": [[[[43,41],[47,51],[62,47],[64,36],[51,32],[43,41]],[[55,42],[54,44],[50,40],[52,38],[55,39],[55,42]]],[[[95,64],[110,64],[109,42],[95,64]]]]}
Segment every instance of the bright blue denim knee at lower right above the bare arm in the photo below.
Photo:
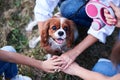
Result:
{"type": "Polygon", "coordinates": [[[115,67],[110,60],[101,58],[92,70],[106,76],[114,76],[115,74],[120,73],[120,64],[115,67]]]}

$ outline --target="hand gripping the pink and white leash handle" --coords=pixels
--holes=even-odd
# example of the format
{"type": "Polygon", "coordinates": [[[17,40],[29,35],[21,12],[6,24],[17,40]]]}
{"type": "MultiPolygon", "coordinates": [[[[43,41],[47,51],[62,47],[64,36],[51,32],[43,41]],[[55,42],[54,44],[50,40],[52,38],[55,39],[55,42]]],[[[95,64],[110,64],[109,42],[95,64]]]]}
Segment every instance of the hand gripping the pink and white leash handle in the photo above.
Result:
{"type": "Polygon", "coordinates": [[[106,21],[108,24],[115,25],[116,27],[120,27],[120,8],[110,2],[110,6],[112,7],[116,18],[110,15],[108,10],[104,10],[104,15],[106,17],[106,21]]]}

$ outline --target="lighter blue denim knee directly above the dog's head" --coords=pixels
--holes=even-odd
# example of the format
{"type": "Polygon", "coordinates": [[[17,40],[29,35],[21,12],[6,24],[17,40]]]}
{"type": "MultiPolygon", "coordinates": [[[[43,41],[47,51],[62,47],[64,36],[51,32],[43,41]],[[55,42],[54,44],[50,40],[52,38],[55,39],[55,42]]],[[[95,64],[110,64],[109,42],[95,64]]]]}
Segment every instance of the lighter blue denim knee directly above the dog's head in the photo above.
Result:
{"type": "Polygon", "coordinates": [[[62,16],[69,18],[74,13],[77,12],[77,10],[84,4],[84,1],[82,0],[65,0],[60,5],[60,12],[62,16]]]}

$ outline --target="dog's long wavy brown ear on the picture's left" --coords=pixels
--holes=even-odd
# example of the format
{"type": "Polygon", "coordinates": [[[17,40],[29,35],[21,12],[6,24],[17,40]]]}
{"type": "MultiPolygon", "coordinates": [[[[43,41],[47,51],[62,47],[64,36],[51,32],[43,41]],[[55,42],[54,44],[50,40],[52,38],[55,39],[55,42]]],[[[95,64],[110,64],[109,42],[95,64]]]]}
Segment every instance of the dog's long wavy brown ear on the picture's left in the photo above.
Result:
{"type": "Polygon", "coordinates": [[[48,45],[48,29],[49,29],[49,20],[47,20],[45,23],[44,23],[44,25],[43,25],[43,27],[42,27],[42,30],[41,30],[41,41],[40,41],[40,45],[42,46],[42,47],[45,47],[45,46],[47,46],[48,45]]]}

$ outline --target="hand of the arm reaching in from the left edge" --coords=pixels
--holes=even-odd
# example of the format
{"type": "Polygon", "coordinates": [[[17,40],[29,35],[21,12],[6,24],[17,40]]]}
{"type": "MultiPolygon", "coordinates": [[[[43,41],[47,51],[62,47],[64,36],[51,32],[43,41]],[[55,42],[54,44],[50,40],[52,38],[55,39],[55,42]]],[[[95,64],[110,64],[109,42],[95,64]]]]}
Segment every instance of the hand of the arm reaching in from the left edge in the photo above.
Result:
{"type": "Polygon", "coordinates": [[[63,60],[58,58],[58,56],[53,56],[52,58],[42,61],[42,70],[48,73],[54,73],[56,70],[61,70],[60,65],[63,64],[63,60]]]}

